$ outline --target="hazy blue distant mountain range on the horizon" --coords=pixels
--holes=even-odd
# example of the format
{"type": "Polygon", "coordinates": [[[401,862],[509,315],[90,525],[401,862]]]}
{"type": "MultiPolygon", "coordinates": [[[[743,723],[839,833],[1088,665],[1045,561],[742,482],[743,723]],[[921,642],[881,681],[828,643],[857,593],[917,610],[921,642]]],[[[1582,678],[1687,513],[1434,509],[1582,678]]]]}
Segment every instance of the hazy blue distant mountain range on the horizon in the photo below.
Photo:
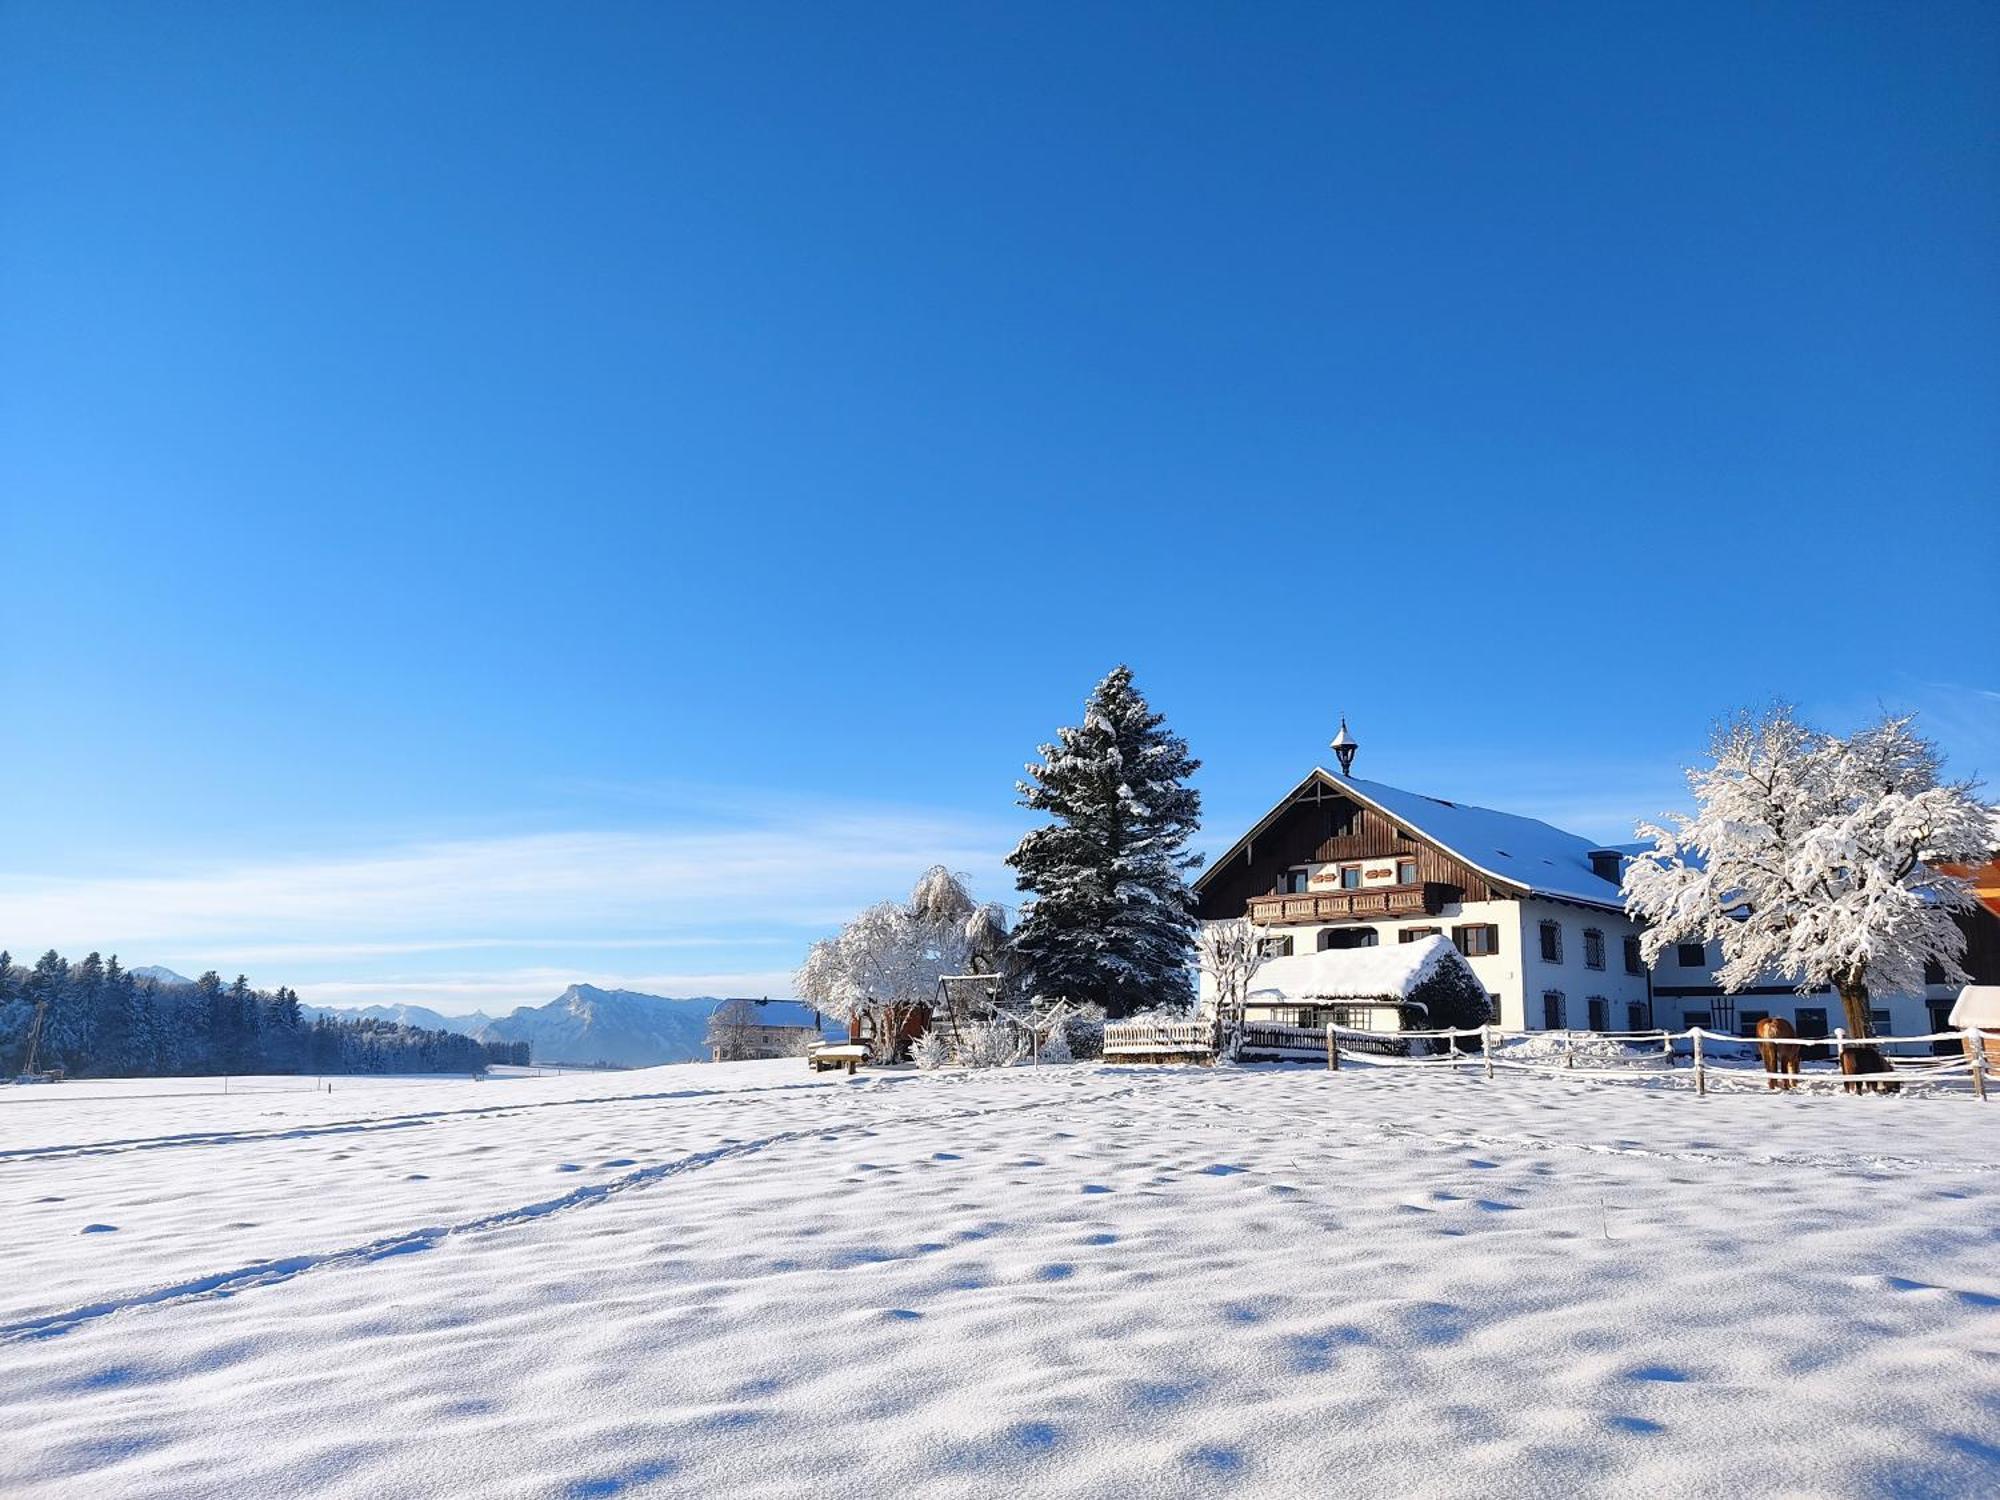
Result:
{"type": "MultiPolygon", "coordinates": [[[[158,964],[132,972],[164,986],[194,982],[158,964]]],[[[526,1042],[536,1062],[656,1068],[662,1062],[700,1062],[708,1056],[708,1016],[718,1004],[712,994],[670,1000],[638,990],[572,984],[546,1006],[520,1006],[508,1016],[448,1016],[430,1006],[300,1006],[300,1012],[308,1020],[386,1020],[482,1042],[526,1042]]]]}

